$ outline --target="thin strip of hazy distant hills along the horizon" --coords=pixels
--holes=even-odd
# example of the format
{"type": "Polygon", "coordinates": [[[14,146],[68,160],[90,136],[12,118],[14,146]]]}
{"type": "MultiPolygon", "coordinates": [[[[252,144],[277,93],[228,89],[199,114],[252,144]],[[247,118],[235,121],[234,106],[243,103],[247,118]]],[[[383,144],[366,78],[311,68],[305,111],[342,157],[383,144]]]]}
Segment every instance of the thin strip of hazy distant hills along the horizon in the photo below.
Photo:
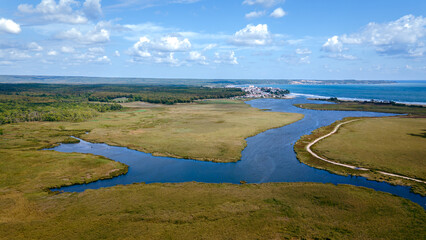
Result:
{"type": "Polygon", "coordinates": [[[0,83],[66,83],[66,84],[141,84],[226,86],[246,84],[338,85],[389,84],[387,80],[303,80],[303,79],[185,79],[185,78],[116,78],[80,76],[20,76],[0,75],[0,83]]]}

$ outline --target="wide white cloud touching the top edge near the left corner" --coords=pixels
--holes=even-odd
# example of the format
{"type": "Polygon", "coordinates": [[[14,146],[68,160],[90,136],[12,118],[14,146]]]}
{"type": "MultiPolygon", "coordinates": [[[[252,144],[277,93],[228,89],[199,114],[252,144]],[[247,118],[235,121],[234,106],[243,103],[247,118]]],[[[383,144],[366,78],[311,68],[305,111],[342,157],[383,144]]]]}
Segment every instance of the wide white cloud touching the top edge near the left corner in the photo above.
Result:
{"type": "Polygon", "coordinates": [[[18,10],[26,14],[35,14],[49,22],[62,22],[71,24],[86,23],[88,19],[83,12],[75,10],[79,2],[75,0],[42,0],[37,6],[20,4],[18,10]]]}

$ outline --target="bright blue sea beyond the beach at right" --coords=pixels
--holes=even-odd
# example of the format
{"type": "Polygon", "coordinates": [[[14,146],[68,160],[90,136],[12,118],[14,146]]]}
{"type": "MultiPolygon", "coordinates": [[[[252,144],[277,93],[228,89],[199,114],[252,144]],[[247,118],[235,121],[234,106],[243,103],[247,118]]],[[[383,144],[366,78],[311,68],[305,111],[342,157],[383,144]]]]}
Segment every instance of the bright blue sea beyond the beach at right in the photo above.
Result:
{"type": "Polygon", "coordinates": [[[426,80],[396,81],[389,84],[347,85],[278,85],[256,84],[259,87],[288,89],[296,96],[311,98],[336,97],[341,100],[394,101],[398,103],[426,105],[426,80]]]}

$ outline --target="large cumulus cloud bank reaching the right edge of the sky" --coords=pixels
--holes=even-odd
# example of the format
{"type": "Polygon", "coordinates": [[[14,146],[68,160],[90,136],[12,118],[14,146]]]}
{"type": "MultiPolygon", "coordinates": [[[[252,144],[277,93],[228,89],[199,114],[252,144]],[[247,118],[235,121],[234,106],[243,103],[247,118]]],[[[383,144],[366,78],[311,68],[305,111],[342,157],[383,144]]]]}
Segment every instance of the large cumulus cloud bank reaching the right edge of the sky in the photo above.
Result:
{"type": "Polygon", "coordinates": [[[323,45],[328,52],[342,52],[343,44],[372,46],[380,54],[421,57],[425,53],[426,18],[403,16],[387,23],[367,24],[360,32],[333,36],[323,45]]]}

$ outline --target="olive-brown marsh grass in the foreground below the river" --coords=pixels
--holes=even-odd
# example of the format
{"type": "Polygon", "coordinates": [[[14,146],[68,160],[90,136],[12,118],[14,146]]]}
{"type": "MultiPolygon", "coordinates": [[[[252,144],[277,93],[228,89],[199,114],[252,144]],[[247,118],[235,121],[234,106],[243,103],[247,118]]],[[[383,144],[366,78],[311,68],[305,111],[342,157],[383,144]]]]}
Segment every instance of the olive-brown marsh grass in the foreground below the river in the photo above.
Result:
{"type": "Polygon", "coordinates": [[[421,239],[426,221],[406,199],[319,183],[133,184],[8,197],[5,239],[421,239]]]}

